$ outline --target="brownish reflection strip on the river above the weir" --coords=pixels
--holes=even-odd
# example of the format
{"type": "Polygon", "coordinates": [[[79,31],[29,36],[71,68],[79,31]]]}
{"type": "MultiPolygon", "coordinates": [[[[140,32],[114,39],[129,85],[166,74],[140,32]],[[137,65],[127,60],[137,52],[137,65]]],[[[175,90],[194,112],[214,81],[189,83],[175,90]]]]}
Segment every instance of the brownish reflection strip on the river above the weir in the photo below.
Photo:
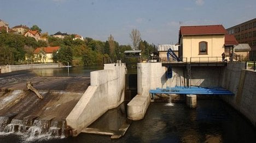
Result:
{"type": "Polygon", "coordinates": [[[66,77],[66,76],[90,76],[91,71],[103,70],[103,66],[95,66],[95,67],[61,67],[55,69],[34,69],[32,70],[38,76],[46,76],[46,77],[66,77]]]}

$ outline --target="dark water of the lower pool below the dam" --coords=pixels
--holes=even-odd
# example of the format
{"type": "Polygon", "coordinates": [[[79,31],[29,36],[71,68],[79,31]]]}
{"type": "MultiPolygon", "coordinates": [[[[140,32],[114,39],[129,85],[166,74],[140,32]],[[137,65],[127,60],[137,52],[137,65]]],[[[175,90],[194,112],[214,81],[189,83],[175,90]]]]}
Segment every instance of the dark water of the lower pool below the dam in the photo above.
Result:
{"type": "MultiPolygon", "coordinates": [[[[117,129],[125,119],[124,107],[110,110],[91,127],[117,129]],[[120,115],[119,115],[120,114],[120,115]],[[117,120],[121,119],[121,120],[117,120]]],[[[0,142],[22,142],[16,135],[0,135],[0,142]]],[[[197,108],[184,103],[151,103],[143,120],[133,121],[125,136],[80,134],[75,138],[37,142],[256,142],[256,131],[240,114],[220,100],[197,101],[197,108]]]]}

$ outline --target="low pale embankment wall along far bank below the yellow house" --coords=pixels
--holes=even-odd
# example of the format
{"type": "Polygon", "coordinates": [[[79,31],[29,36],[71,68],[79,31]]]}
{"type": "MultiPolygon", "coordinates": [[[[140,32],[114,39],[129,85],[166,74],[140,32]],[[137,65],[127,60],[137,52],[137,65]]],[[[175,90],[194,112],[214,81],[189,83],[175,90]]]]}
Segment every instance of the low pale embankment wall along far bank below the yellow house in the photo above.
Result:
{"type": "Polygon", "coordinates": [[[45,69],[56,68],[59,64],[30,64],[30,65],[10,65],[11,71],[30,70],[30,69],[45,69]]]}

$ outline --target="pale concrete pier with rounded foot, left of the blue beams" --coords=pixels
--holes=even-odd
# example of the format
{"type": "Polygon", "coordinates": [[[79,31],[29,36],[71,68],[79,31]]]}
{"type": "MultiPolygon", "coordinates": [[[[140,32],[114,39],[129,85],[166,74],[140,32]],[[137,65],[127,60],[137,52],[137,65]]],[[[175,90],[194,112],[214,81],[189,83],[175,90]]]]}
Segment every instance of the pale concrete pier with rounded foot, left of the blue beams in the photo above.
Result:
{"type": "Polygon", "coordinates": [[[166,67],[162,63],[137,64],[137,95],[127,104],[127,117],[131,120],[143,119],[150,104],[149,90],[159,88],[166,81],[166,67]]]}

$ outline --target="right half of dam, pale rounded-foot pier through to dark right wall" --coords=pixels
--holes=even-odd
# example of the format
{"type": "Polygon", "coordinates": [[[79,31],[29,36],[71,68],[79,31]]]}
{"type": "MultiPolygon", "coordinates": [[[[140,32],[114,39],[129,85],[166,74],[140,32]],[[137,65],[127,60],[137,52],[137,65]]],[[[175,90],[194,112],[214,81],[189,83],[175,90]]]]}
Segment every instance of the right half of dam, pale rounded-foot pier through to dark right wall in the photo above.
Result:
{"type": "MultiPolygon", "coordinates": [[[[167,67],[162,63],[139,63],[138,95],[127,104],[127,115],[132,120],[141,120],[150,104],[150,89],[186,86],[187,80],[194,86],[221,86],[234,96],[220,97],[247,117],[256,126],[256,72],[245,70],[245,63],[230,62],[227,66],[191,67],[191,77],[184,67],[172,67],[172,78],[166,78],[167,67]]],[[[177,98],[179,95],[170,95],[177,98]]],[[[180,97],[179,97],[180,98],[180,97]]]]}

